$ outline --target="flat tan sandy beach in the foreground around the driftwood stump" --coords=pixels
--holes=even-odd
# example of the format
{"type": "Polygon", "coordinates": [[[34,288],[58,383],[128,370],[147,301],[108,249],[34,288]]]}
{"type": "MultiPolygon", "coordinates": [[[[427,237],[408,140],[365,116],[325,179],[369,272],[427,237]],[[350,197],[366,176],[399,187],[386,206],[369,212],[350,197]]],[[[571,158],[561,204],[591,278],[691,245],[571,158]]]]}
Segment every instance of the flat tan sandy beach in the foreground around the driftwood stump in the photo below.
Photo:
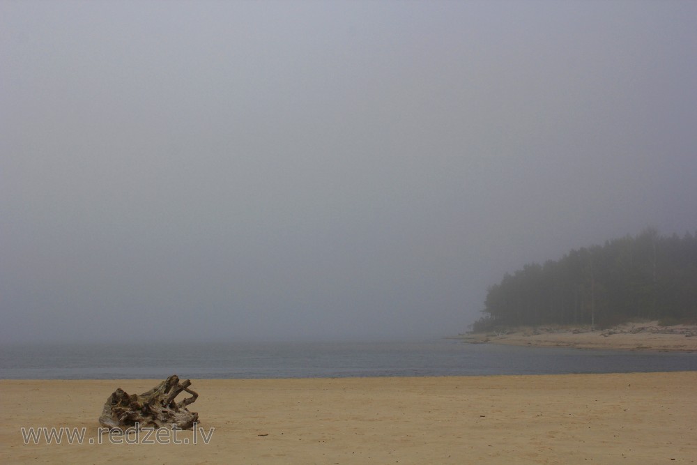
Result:
{"type": "MultiPolygon", "coordinates": [[[[687,464],[697,372],[192,380],[188,444],[98,441],[117,387],[161,380],[0,380],[0,463],[687,464]],[[21,427],[85,428],[82,445],[24,444],[21,427]],[[89,444],[93,439],[93,444],[89,444]]],[[[135,435],[130,436],[135,438],[135,435]]]]}

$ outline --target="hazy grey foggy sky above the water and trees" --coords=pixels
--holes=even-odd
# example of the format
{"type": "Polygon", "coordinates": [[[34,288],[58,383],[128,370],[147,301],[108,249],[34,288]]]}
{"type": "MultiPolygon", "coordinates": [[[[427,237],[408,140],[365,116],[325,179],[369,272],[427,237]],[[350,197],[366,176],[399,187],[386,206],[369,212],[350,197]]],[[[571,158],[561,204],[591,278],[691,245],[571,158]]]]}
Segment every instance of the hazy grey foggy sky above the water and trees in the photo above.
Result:
{"type": "Polygon", "coordinates": [[[695,231],[696,22],[0,1],[0,339],[450,335],[527,262],[695,231]]]}

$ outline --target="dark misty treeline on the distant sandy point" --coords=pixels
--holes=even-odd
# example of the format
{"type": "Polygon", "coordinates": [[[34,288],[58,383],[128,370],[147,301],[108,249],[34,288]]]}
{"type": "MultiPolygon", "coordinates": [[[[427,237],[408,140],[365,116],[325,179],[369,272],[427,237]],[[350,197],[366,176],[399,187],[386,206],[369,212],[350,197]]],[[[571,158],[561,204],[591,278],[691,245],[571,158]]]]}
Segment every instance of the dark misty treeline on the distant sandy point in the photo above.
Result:
{"type": "Polygon", "coordinates": [[[473,330],[578,324],[600,328],[631,319],[697,323],[697,232],[636,237],[572,250],[528,264],[489,288],[473,330]]]}

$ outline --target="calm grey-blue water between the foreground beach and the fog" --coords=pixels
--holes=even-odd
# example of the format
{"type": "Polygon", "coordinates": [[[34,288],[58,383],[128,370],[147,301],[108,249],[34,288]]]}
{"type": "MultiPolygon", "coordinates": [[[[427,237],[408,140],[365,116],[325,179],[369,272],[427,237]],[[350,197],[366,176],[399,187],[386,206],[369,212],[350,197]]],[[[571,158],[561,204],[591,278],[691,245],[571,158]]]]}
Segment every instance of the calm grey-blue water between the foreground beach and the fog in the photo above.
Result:
{"type": "Polygon", "coordinates": [[[697,353],[589,351],[457,340],[382,343],[0,346],[4,379],[329,378],[697,370],[697,353]]]}

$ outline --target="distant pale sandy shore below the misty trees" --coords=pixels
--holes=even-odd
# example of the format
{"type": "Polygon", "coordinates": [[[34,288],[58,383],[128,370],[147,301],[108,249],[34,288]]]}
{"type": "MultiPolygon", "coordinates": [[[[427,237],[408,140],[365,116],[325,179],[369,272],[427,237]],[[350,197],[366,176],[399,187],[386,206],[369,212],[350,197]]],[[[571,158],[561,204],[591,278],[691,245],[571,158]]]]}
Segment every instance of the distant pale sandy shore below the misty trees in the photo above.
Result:
{"type": "Polygon", "coordinates": [[[519,328],[504,333],[468,334],[461,339],[516,346],[694,352],[697,351],[697,326],[658,326],[656,321],[650,321],[595,331],[588,328],[519,328]]]}

